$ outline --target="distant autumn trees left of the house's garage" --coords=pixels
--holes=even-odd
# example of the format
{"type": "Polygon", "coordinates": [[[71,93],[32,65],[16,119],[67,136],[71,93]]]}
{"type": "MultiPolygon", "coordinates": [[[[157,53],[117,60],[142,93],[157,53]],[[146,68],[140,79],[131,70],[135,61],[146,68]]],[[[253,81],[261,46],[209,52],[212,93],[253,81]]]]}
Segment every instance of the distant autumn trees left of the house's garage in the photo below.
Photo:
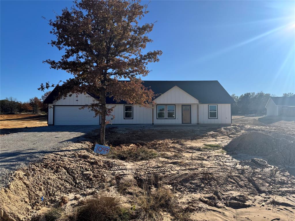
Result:
{"type": "Polygon", "coordinates": [[[51,91],[46,92],[41,98],[33,97],[27,102],[18,101],[17,98],[9,97],[0,100],[1,113],[34,113],[47,112],[47,104],[43,101],[51,91]]]}

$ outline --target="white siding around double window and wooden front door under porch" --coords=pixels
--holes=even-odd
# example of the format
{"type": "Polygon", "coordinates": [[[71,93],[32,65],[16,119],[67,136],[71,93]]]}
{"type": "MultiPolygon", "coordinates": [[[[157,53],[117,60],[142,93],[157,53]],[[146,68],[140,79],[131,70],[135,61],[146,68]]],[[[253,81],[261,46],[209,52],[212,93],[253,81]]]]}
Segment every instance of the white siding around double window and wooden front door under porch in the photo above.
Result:
{"type": "MultiPolygon", "coordinates": [[[[166,104],[154,105],[154,124],[181,124],[182,123],[181,104],[175,104],[175,119],[157,119],[157,105],[166,105],[166,104]]],[[[191,123],[196,124],[197,123],[197,104],[186,104],[186,105],[191,105],[191,123]]]]}

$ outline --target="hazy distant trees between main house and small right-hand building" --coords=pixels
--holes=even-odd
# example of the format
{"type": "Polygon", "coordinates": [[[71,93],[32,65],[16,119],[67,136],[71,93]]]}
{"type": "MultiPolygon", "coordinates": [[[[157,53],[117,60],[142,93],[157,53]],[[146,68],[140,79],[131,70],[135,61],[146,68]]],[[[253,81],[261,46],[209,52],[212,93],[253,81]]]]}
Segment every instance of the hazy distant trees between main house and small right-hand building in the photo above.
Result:
{"type": "MultiPolygon", "coordinates": [[[[294,93],[284,93],[283,97],[293,97],[294,93]]],[[[240,96],[232,94],[235,104],[232,105],[232,114],[266,114],[265,105],[270,97],[276,97],[262,91],[245,93],[240,96]]]]}

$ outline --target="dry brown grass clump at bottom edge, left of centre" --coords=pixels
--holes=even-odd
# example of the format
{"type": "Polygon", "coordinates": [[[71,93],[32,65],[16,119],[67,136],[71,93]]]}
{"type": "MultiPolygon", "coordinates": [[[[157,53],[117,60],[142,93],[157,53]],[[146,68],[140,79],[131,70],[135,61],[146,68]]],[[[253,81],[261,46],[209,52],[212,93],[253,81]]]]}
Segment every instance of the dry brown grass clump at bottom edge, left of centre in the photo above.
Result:
{"type": "Polygon", "coordinates": [[[130,210],[120,205],[117,197],[107,194],[97,195],[80,202],[81,206],[65,212],[62,208],[52,208],[45,213],[46,221],[128,221],[132,219],[130,210]]]}

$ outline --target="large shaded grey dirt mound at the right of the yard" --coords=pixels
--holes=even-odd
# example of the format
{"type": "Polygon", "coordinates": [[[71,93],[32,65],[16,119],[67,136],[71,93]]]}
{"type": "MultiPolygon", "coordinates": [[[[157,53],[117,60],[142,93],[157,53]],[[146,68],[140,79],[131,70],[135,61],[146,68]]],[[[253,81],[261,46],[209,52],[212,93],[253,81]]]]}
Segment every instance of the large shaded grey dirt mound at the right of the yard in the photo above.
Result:
{"type": "Polygon", "coordinates": [[[263,156],[275,164],[295,165],[295,143],[283,137],[283,134],[279,136],[278,133],[274,137],[251,131],[233,139],[224,149],[252,156],[263,156]]]}

